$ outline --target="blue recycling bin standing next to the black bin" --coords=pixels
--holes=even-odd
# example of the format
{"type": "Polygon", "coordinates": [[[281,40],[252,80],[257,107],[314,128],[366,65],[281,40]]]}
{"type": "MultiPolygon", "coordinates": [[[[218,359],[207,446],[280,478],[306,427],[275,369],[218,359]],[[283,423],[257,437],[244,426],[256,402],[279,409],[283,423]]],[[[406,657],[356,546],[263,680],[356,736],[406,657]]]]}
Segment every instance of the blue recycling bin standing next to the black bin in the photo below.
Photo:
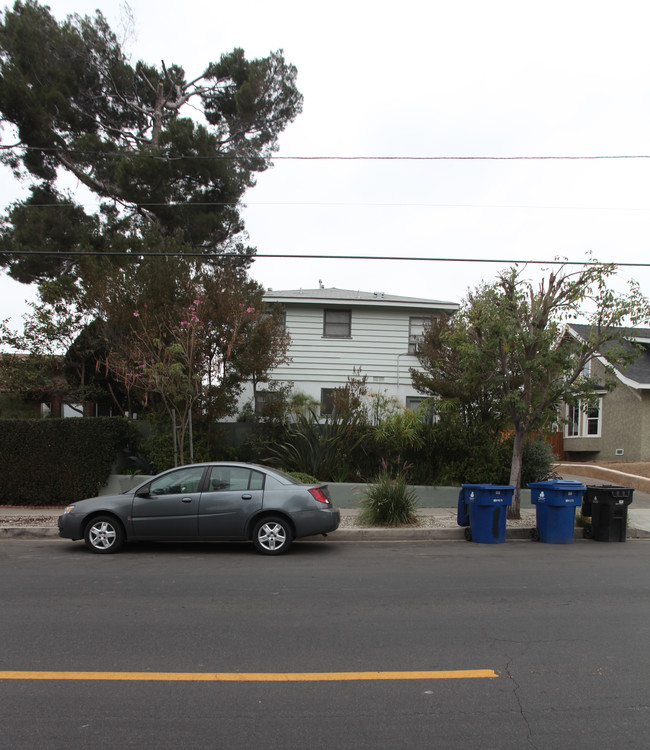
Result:
{"type": "Polygon", "coordinates": [[[571,479],[556,479],[530,482],[528,486],[537,522],[537,528],[531,529],[531,537],[549,544],[572,542],[576,506],[582,505],[582,496],[587,489],[584,484],[571,479]]]}

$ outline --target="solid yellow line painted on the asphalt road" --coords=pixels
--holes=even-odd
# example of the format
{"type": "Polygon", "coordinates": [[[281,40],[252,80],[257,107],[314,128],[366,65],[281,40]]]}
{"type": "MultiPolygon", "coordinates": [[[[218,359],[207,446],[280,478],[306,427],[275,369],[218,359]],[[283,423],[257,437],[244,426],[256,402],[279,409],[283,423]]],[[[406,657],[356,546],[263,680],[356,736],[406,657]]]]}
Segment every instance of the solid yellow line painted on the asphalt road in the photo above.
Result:
{"type": "Polygon", "coordinates": [[[142,682],[338,682],[467,680],[498,677],[492,669],[435,672],[1,672],[0,680],[131,680],[142,682]]]}

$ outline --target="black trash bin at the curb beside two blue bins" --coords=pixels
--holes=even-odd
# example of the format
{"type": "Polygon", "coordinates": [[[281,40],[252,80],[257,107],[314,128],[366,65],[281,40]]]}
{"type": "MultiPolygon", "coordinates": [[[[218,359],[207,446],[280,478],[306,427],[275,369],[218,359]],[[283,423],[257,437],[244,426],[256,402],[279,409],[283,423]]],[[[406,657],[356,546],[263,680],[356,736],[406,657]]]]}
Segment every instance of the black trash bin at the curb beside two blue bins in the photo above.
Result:
{"type": "Polygon", "coordinates": [[[597,542],[624,542],[627,539],[627,509],[634,490],[615,484],[587,485],[582,515],[591,517],[582,533],[597,542]]]}

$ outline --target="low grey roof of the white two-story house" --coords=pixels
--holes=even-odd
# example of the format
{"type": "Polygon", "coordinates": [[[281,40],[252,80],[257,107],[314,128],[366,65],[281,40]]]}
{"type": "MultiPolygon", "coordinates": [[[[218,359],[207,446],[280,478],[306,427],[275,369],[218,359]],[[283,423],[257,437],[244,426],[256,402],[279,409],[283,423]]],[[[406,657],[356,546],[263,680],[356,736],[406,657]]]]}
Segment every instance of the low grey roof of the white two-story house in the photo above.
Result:
{"type": "Polygon", "coordinates": [[[264,295],[267,302],[304,302],[318,305],[359,305],[374,307],[418,307],[430,310],[458,310],[456,302],[442,302],[440,300],[424,299],[421,297],[398,297],[384,292],[361,292],[352,289],[337,289],[336,287],[320,289],[289,289],[273,291],[269,289],[264,295]]]}

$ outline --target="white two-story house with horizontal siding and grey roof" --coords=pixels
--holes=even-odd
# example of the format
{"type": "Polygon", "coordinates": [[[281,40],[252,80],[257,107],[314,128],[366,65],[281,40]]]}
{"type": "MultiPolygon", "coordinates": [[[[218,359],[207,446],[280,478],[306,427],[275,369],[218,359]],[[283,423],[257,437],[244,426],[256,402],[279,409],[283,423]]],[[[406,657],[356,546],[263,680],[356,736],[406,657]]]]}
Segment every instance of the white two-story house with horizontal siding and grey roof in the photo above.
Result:
{"type": "MultiPolygon", "coordinates": [[[[423,397],[413,388],[409,368],[419,367],[417,343],[432,316],[458,310],[454,302],[336,288],[268,291],[264,299],[282,306],[291,337],[290,361],[272,371],[271,382],[309,396],[321,405],[321,415],[355,369],[366,376],[369,392],[402,407],[416,406],[423,397]]],[[[259,387],[258,401],[268,385],[259,387]]]]}

